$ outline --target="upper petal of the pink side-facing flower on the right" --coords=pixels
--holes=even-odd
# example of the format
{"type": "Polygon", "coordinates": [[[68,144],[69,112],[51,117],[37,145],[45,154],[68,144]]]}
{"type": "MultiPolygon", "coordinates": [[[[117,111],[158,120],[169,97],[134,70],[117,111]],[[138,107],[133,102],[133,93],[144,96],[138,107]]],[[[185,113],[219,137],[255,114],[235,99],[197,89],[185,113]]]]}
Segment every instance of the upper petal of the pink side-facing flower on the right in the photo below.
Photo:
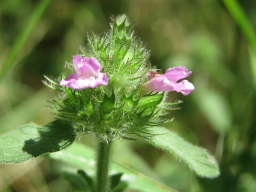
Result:
{"type": "Polygon", "coordinates": [[[166,70],[165,76],[169,79],[169,81],[176,83],[182,78],[188,77],[192,71],[188,71],[188,69],[184,66],[172,67],[166,70]]]}

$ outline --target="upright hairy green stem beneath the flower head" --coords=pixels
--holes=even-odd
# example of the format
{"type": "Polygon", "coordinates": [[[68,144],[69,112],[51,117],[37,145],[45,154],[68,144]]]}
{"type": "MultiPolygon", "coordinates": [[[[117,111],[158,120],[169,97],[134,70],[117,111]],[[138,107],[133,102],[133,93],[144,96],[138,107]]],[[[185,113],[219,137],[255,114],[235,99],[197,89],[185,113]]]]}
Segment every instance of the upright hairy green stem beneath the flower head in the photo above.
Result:
{"type": "Polygon", "coordinates": [[[97,160],[97,192],[108,191],[108,164],[109,164],[109,151],[111,142],[99,142],[98,160],[97,160]]]}

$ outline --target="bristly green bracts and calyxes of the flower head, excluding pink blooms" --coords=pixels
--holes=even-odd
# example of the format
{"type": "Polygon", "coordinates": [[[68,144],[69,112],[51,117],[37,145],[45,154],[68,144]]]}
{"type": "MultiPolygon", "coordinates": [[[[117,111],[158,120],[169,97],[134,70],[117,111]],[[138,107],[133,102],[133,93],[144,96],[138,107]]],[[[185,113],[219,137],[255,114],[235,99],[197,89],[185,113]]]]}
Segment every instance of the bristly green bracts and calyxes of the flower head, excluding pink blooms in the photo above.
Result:
{"type": "Polygon", "coordinates": [[[149,127],[165,121],[166,109],[160,107],[166,106],[165,94],[145,93],[141,87],[154,68],[149,63],[149,51],[134,36],[132,24],[125,17],[117,17],[110,27],[102,36],[89,34],[87,46],[78,53],[99,61],[101,72],[109,78],[108,85],[81,90],[60,86],[60,79],[74,71],[73,64],[68,63],[58,81],[47,79],[51,88],[62,93],[52,101],[53,113],[73,124],[77,132],[92,133],[105,141],[128,138],[126,134],[150,138],[149,127]]]}

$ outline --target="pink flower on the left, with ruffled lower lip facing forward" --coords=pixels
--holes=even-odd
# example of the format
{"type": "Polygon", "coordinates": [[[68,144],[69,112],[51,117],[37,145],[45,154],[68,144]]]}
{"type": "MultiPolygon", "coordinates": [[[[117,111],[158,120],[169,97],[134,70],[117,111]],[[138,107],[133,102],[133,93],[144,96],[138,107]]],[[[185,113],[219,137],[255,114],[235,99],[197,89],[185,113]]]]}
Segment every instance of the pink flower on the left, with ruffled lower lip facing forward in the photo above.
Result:
{"type": "Polygon", "coordinates": [[[86,89],[108,84],[106,73],[100,73],[100,63],[94,57],[75,55],[73,64],[76,73],[71,73],[62,79],[60,85],[66,85],[72,89],[86,89]]]}

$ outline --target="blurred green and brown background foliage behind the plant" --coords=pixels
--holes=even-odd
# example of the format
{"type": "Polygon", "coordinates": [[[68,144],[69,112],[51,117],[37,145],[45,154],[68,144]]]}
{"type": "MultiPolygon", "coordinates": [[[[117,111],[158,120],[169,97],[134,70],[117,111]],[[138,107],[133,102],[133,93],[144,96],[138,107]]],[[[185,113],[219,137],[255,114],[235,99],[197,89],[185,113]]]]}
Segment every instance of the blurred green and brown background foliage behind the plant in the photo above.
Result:
{"type": "MultiPolygon", "coordinates": [[[[234,2],[2,0],[0,133],[51,122],[46,100],[56,93],[44,87],[43,75],[57,76],[86,45],[88,31],[101,34],[111,15],[125,13],[153,65],[162,72],[179,65],[193,71],[188,79],[196,90],[187,97],[169,94],[183,103],[165,126],[213,154],[221,176],[198,178],[141,142],[117,141],[113,158],[178,191],[256,191],[256,1],[237,1],[247,19],[234,2]]],[[[91,135],[80,142],[95,146],[91,135]]],[[[69,191],[59,168],[47,158],[1,165],[0,191],[69,191]]]]}

